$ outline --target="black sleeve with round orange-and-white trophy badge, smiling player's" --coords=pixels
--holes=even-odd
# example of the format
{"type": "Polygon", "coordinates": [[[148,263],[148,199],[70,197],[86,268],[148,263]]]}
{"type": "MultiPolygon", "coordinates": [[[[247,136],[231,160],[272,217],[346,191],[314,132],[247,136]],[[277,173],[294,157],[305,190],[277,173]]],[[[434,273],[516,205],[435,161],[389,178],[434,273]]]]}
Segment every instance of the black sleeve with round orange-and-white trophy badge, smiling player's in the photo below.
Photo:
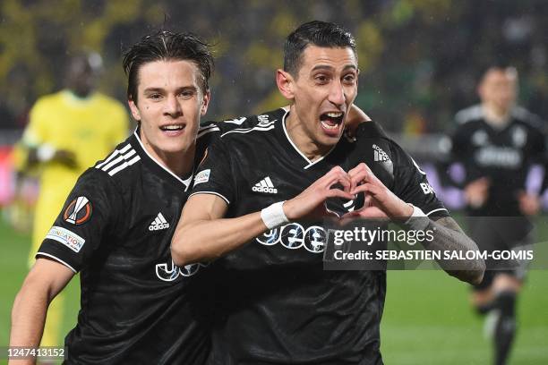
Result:
{"type": "Polygon", "coordinates": [[[54,259],[79,272],[102,240],[116,230],[119,207],[120,194],[112,179],[89,169],[69,194],[36,257],[54,259]]]}

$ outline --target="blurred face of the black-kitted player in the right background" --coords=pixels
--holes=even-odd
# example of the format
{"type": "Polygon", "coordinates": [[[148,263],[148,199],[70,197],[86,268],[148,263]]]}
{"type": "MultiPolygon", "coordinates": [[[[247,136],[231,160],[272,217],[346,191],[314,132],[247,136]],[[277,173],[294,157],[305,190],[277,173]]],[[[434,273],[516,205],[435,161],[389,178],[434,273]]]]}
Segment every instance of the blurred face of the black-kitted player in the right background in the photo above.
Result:
{"type": "Polygon", "coordinates": [[[517,80],[513,72],[491,70],[484,76],[479,87],[482,101],[507,112],[517,97],[517,80]]]}

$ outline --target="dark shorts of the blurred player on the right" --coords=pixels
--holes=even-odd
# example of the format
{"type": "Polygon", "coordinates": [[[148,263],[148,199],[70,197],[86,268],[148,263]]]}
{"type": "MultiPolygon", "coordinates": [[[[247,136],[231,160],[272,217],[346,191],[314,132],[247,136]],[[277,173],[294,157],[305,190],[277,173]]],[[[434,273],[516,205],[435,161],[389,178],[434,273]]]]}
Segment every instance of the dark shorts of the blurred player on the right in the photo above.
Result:
{"type": "MultiPolygon", "coordinates": [[[[469,216],[468,235],[479,250],[525,250],[533,242],[534,226],[524,216],[469,216]]],[[[482,283],[474,285],[481,291],[491,286],[495,276],[507,274],[523,281],[527,274],[527,260],[486,259],[487,267],[482,283]]]]}

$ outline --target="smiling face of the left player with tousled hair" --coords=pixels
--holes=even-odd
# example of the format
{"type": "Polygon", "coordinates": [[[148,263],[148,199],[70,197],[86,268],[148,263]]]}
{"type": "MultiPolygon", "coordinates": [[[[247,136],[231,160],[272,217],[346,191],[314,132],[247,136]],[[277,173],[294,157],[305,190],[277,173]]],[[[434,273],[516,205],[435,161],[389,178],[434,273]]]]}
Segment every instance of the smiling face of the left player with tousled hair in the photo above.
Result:
{"type": "Polygon", "coordinates": [[[132,115],[141,121],[141,141],[154,157],[193,149],[201,115],[210,94],[200,87],[200,71],[191,61],[155,61],[139,70],[138,102],[129,101],[132,115]]]}

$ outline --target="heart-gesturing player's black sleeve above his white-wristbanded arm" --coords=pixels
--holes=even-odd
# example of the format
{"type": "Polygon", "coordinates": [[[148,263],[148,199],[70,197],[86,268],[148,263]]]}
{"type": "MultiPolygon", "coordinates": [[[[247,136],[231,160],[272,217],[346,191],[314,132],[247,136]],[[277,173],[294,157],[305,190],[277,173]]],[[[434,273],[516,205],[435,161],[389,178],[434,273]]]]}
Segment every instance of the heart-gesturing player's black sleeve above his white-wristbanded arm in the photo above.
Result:
{"type": "Polygon", "coordinates": [[[230,205],[230,202],[235,199],[236,192],[234,176],[225,140],[215,139],[206,149],[205,156],[194,175],[191,196],[214,194],[230,205]]]}

